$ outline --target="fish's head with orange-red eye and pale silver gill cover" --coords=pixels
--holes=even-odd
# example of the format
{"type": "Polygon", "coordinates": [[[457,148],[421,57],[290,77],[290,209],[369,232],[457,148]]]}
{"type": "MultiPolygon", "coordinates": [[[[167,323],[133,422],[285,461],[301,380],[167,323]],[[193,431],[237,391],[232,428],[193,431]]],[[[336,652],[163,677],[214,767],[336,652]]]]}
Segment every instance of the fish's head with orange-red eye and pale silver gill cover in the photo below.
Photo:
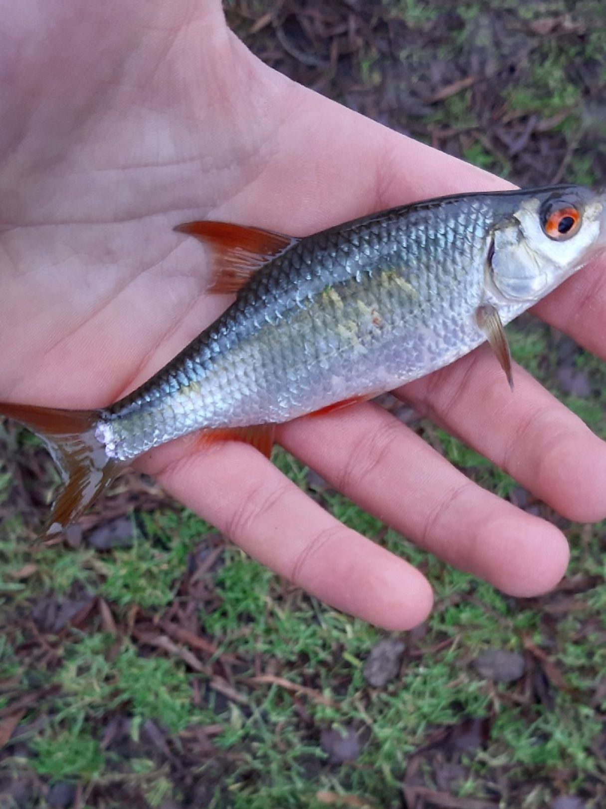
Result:
{"type": "Polygon", "coordinates": [[[516,210],[492,231],[490,286],[504,302],[535,302],[604,249],[606,188],[520,193],[516,210]]]}

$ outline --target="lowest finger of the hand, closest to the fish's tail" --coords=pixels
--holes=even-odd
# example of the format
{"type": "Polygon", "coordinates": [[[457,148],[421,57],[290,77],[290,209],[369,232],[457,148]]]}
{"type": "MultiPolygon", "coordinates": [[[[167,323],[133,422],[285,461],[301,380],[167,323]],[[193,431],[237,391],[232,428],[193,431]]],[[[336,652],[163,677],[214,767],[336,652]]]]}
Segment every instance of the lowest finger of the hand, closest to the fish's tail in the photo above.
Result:
{"type": "Polygon", "coordinates": [[[431,588],[419,571],[343,526],[251,447],[181,452],[167,467],[162,455],[146,471],[158,474],[159,465],[169,492],[322,601],[385,629],[410,629],[430,612],[431,588]]]}

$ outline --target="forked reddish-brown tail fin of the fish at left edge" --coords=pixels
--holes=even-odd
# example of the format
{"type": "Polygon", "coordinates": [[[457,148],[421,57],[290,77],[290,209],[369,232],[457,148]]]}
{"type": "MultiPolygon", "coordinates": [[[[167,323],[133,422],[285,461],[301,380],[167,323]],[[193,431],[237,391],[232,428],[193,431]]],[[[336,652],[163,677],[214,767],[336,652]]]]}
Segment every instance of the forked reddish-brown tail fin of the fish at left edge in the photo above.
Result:
{"type": "Polygon", "coordinates": [[[59,410],[0,402],[0,416],[19,421],[42,439],[61,472],[59,490],[42,536],[74,522],[120,472],[123,464],[107,457],[95,435],[97,410],[59,410]]]}

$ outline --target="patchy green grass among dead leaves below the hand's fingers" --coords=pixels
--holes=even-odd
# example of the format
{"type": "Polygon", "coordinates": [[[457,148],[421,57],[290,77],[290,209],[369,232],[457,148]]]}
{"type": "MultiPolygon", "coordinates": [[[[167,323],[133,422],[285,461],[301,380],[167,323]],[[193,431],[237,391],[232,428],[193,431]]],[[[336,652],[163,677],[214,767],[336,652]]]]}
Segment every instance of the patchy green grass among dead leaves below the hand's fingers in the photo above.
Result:
{"type": "MultiPolygon", "coordinates": [[[[526,337],[516,337],[520,351],[529,351],[541,339],[545,335],[532,329],[526,337]]],[[[441,433],[440,441],[453,463],[478,468],[478,456],[461,443],[441,433]]],[[[296,460],[284,454],[280,464],[290,468],[295,480],[302,480],[305,469],[296,460]]],[[[501,472],[490,472],[486,462],[481,470],[478,479],[483,484],[492,489],[503,485],[501,472]]],[[[331,495],[326,505],[367,536],[377,536],[382,529],[381,523],[347,498],[331,495]]],[[[145,517],[145,523],[152,536],[146,542],[137,540],[130,549],[108,554],[102,566],[93,565],[96,581],[90,575],[78,577],[72,570],[61,578],[61,587],[69,581],[86,581],[87,587],[103,592],[119,625],[137,602],[142,601],[152,616],[161,613],[175,598],[175,582],[183,576],[187,550],[204,541],[210,528],[187,511],[180,515],[161,512],[145,517]],[[154,572],[152,561],[159,570],[154,572]],[[141,575],[149,578],[149,591],[133,584],[141,575]]],[[[580,528],[572,530],[582,535],[580,528]]],[[[544,644],[540,608],[508,599],[489,585],[452,570],[395,532],[387,532],[382,541],[427,571],[436,587],[436,610],[425,636],[415,643],[415,659],[408,661],[401,677],[383,689],[368,688],[363,673],[368,650],[382,633],[309,596],[296,593],[292,599],[283,582],[240,550],[229,548],[213,576],[216,607],[200,617],[204,634],[213,637],[221,654],[238,655],[234,687],[244,703],[225,701],[208,687],[209,676],[188,671],[179,659],[143,654],[132,640],[123,637],[118,641],[95,624],[86,632],[68,629],[60,642],[49,638],[57,653],[53,666],[30,669],[38,673],[37,688],[57,690],[31,709],[32,719],[48,714],[48,722],[41,731],[30,735],[26,731],[23,741],[29,745],[31,757],[27,761],[15,758],[11,768],[31,768],[50,783],[77,780],[99,786],[109,779],[121,789],[135,785],[149,806],[160,806],[169,796],[179,800],[183,796],[166,766],[158,767],[149,751],[124,758],[103,749],[103,726],[108,718],[120,714],[128,716],[128,734],[135,748],[145,722],[157,723],[168,738],[175,739],[191,728],[220,726],[213,738],[217,758],[234,757],[208,807],[321,807],[323,798],[315,796],[322,797],[322,793],[342,793],[344,799],[365,797],[373,806],[394,806],[410,754],[436,728],[457,726],[463,717],[488,717],[490,739],[486,748],[466,760],[468,775],[459,794],[481,797],[487,774],[499,762],[507,762],[510,780],[565,771],[573,773],[572,786],[583,789],[587,777],[601,769],[593,745],[600,736],[603,706],[591,707],[588,697],[606,664],[600,642],[604,619],[599,617],[606,604],[606,565],[598,553],[603,530],[598,526],[591,534],[585,532],[584,545],[574,543],[570,576],[591,575],[595,585],[579,595],[581,608],[558,624],[550,658],[564,672],[574,694],[559,690],[552,705],[516,704],[511,701],[516,688],[491,685],[470,665],[482,650],[522,650],[528,638],[539,646],[544,644]],[[583,623],[595,621],[596,616],[599,626],[579,642],[583,623]],[[444,641],[449,643],[444,646],[444,641]],[[443,648],[424,653],[436,644],[443,648]],[[280,684],[248,684],[255,667],[271,671],[276,664],[280,676],[311,688],[316,697],[301,701],[280,684]],[[192,703],[192,688],[205,695],[201,705],[192,703]],[[353,728],[364,738],[355,762],[330,765],[318,743],[320,729],[330,727],[353,728]]],[[[574,540],[574,533],[571,538],[574,540]]],[[[83,565],[86,570],[90,563],[90,552],[39,554],[37,578],[28,578],[16,596],[21,603],[35,597],[40,586],[48,588],[48,571],[57,569],[61,557],[69,558],[74,569],[83,565]]],[[[24,561],[27,552],[21,549],[19,564],[24,561]]],[[[68,567],[65,561],[64,565],[68,567]]],[[[19,669],[15,655],[20,640],[19,633],[12,631],[3,638],[3,679],[26,673],[19,669]]],[[[196,772],[200,778],[210,777],[212,762],[199,762],[196,772]]],[[[545,805],[541,803],[544,798],[544,791],[539,790],[537,800],[531,796],[525,805],[539,809],[545,805]]],[[[335,800],[339,805],[338,798],[335,800]]]]}

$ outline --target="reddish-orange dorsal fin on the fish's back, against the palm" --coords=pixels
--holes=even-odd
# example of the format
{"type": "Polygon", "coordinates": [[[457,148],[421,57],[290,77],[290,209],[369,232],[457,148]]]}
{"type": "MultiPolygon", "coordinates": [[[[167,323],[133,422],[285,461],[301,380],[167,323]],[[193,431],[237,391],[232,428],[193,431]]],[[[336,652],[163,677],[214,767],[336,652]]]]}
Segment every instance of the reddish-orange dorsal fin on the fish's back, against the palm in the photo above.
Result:
{"type": "Polygon", "coordinates": [[[210,292],[238,292],[259,267],[276,258],[299,239],[283,233],[242,227],[229,222],[185,222],[178,233],[195,236],[212,245],[216,260],[210,292]]]}

